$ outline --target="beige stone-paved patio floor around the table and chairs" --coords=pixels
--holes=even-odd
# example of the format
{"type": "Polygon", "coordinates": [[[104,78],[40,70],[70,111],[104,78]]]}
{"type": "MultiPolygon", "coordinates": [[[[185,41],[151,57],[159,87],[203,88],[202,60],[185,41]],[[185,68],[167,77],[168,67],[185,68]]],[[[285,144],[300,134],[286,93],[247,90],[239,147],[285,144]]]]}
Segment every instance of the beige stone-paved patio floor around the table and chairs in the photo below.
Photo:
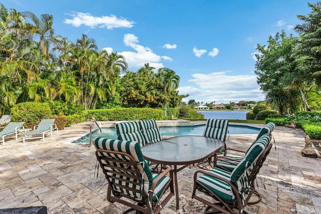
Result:
{"type": "MultiPolygon", "coordinates": [[[[261,127],[262,125],[254,126],[261,127]]],[[[9,140],[0,144],[0,208],[41,206],[48,213],[120,213],[126,207],[106,200],[107,182],[99,168],[94,177],[94,147],[71,143],[88,132],[61,130],[46,141],[9,140]]],[[[304,132],[277,126],[271,149],[257,178],[262,201],[245,207],[254,213],[321,213],[321,158],[301,155],[304,132]],[[265,188],[264,188],[265,187],[265,188]]],[[[246,147],[255,135],[231,135],[228,145],[246,147]]],[[[273,140],[273,139],[272,139],[273,140]]],[[[205,205],[192,199],[197,167],[178,174],[180,210],[175,197],[163,214],[203,213],[205,205]]]]}

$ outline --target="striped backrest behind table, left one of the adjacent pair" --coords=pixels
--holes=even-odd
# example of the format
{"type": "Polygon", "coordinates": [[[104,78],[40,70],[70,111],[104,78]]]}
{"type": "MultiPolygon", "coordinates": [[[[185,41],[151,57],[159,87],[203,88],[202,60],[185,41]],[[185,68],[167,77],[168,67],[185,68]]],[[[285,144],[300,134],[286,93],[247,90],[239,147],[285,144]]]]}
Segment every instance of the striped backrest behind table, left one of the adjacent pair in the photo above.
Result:
{"type": "Polygon", "coordinates": [[[118,140],[136,141],[139,143],[140,147],[146,144],[146,140],[139,129],[137,121],[117,123],[116,133],[118,140]]]}

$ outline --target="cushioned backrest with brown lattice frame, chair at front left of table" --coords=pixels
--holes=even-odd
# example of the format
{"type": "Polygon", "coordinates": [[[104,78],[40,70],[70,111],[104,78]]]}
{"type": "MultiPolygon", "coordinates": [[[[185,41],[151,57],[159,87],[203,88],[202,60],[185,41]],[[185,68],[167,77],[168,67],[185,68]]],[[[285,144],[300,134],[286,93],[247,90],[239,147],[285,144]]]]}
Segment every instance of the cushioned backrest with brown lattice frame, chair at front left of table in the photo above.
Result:
{"type": "Polygon", "coordinates": [[[152,185],[152,173],[137,142],[98,137],[94,145],[114,195],[136,199],[142,199],[143,192],[147,195],[152,185]]]}

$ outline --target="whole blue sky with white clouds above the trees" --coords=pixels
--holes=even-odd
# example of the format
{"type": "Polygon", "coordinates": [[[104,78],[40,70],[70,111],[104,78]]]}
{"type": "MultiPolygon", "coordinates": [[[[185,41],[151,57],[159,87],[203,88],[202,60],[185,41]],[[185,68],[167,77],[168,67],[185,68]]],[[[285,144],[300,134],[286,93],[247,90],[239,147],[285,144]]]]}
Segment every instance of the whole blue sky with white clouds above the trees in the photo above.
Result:
{"type": "MultiPolygon", "coordinates": [[[[315,4],[316,1],[309,1],[315,4]]],[[[5,0],[2,4],[38,17],[51,14],[55,33],[76,42],[82,34],[99,49],[126,58],[129,71],[145,63],[180,77],[188,102],[264,100],[256,83],[256,45],[301,22],[311,12],[303,0],[5,0]]]]}

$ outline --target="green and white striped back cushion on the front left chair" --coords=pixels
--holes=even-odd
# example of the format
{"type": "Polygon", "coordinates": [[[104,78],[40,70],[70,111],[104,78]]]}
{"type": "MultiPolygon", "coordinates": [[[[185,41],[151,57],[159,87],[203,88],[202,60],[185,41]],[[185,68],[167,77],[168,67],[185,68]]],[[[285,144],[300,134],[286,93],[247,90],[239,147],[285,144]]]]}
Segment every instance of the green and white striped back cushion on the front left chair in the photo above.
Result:
{"type": "MultiPolygon", "coordinates": [[[[148,190],[150,189],[150,187],[152,185],[153,175],[152,175],[147,163],[145,162],[145,160],[142,156],[140,146],[137,142],[112,140],[112,139],[107,139],[107,138],[103,138],[103,137],[98,137],[95,139],[94,145],[95,145],[96,149],[106,149],[106,150],[112,150],[112,151],[126,152],[126,153],[130,154],[131,156],[133,156],[134,160],[136,161],[138,171],[143,177],[143,189],[141,189],[141,186],[133,186],[133,188],[135,188],[137,190],[137,192],[129,191],[127,189],[125,191],[125,193],[128,195],[134,196],[136,198],[139,198],[139,199],[142,198],[142,195],[140,193],[140,192],[142,192],[142,190],[146,194],[148,193],[148,190]]],[[[120,159],[120,160],[125,160],[125,161],[129,160],[129,158],[124,155],[111,154],[111,153],[107,153],[107,152],[100,152],[100,154],[102,156],[112,157],[112,158],[116,158],[116,159],[120,159]]],[[[134,175],[134,174],[129,173],[127,171],[128,167],[130,169],[133,169],[132,166],[129,166],[129,165],[124,166],[123,164],[112,162],[112,160],[108,161],[108,164],[123,168],[124,170],[120,170],[123,173],[127,173],[128,175],[134,175]]],[[[117,174],[118,170],[116,170],[116,169],[113,169],[113,170],[115,171],[115,174],[117,174]]],[[[135,176],[141,176],[141,175],[135,175],[135,176]]],[[[130,176],[128,176],[128,177],[122,176],[122,179],[133,180],[133,178],[130,178],[130,176]]],[[[121,180],[113,180],[113,181],[115,183],[121,183],[125,186],[131,185],[129,182],[127,183],[127,182],[124,182],[121,180]]],[[[114,186],[114,188],[118,189],[119,191],[122,191],[122,189],[119,187],[114,186]]]]}

